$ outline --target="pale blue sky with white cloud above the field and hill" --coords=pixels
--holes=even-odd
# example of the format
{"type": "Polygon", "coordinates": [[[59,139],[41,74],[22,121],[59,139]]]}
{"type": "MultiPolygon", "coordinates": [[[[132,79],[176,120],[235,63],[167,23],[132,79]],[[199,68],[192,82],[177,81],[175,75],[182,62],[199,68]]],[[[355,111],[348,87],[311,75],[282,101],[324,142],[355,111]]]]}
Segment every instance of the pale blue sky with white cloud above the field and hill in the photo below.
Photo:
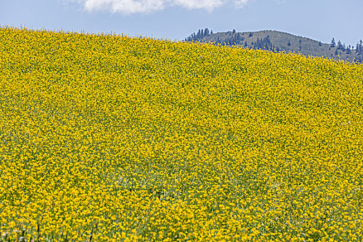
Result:
{"type": "Polygon", "coordinates": [[[363,0],[0,0],[0,26],[182,40],[279,30],[325,43],[363,39],[363,0]]]}

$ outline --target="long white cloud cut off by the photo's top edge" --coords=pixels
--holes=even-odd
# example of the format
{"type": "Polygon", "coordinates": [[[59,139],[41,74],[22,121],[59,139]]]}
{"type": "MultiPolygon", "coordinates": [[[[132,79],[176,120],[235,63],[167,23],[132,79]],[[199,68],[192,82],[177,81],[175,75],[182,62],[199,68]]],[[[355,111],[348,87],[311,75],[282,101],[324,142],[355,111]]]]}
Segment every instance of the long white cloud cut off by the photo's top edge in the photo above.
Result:
{"type": "Polygon", "coordinates": [[[153,12],[167,6],[180,6],[189,10],[203,9],[211,12],[226,3],[243,8],[249,0],[68,0],[82,4],[88,12],[107,11],[129,15],[138,12],[153,12]]]}

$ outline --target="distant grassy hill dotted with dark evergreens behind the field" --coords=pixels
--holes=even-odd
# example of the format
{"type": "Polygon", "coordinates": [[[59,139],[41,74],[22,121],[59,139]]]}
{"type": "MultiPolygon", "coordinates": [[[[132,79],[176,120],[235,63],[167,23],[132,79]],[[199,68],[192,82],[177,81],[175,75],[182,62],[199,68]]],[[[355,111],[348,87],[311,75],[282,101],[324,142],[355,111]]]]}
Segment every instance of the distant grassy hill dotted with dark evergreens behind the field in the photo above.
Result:
{"type": "Polygon", "coordinates": [[[356,46],[345,46],[341,41],[332,39],[331,44],[321,41],[291,35],[276,30],[262,30],[257,32],[216,32],[205,28],[198,30],[185,41],[213,41],[215,44],[239,44],[248,48],[273,50],[275,52],[294,52],[303,55],[327,57],[332,59],[348,59],[349,62],[363,62],[363,42],[358,41],[356,46]]]}

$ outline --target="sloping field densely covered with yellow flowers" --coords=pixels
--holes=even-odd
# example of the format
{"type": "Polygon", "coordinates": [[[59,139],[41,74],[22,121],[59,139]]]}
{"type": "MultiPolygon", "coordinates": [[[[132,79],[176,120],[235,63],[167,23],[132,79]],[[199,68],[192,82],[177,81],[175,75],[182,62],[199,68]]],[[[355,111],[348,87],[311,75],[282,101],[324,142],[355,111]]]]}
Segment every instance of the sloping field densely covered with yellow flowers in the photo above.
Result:
{"type": "Polygon", "coordinates": [[[0,28],[0,241],[361,241],[363,66],[0,28]]]}

